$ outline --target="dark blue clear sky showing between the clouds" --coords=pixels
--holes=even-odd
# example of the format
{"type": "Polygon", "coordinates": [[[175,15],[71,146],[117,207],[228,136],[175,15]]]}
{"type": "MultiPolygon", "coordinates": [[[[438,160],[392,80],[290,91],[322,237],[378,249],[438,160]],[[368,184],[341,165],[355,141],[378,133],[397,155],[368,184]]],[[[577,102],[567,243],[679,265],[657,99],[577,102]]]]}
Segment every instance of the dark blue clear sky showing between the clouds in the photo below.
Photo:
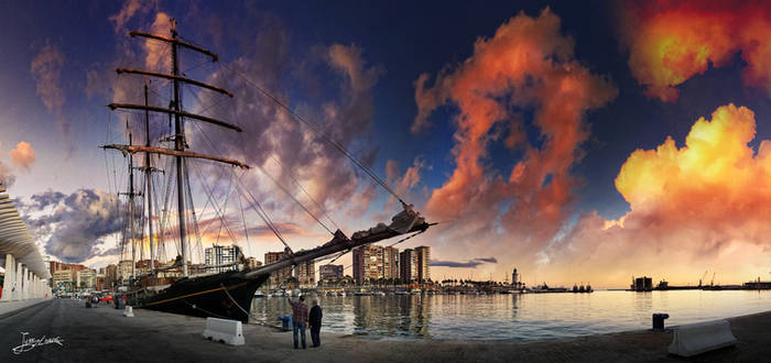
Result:
{"type": "MultiPolygon", "coordinates": [[[[110,101],[108,94],[87,94],[88,73],[104,72],[123,61],[123,46],[131,41],[116,32],[110,16],[127,4],[0,3],[0,162],[11,165],[8,152],[21,141],[32,145],[36,154],[29,172],[13,170],[13,197],[29,199],[47,189],[64,194],[110,189],[106,157],[97,146],[115,138],[109,135],[109,128],[119,128],[121,121],[104,107],[110,101]],[[65,98],[61,113],[70,124],[68,133],[61,132],[55,121],[57,111],[46,109],[36,94],[31,64],[46,46],[55,47],[66,59],[58,69],[58,86],[65,98]]],[[[620,41],[619,9],[605,1],[159,1],[146,8],[129,18],[127,29],[148,30],[156,13],[167,13],[178,19],[181,34],[219,53],[225,64],[247,55],[249,62],[271,58],[270,53],[275,50],[253,46],[268,44],[261,43],[260,36],[280,34],[278,38],[285,47],[281,59],[286,64],[271,68],[280,74],[274,75],[278,81],[268,87],[278,87],[273,90],[289,99],[293,108],[310,112],[321,112],[329,102],[341,108],[348,101],[347,75],[329,66],[324,52],[336,44],[354,50],[352,53],[358,50],[363,69],[376,69],[377,77],[366,90],[367,99],[371,99],[371,120],[363,123],[366,130],[357,133],[349,145],[356,148],[355,153],[360,152],[359,157],[366,151],[377,151],[372,168],[383,177],[389,161],[399,164],[400,174],[416,157],[424,161],[420,182],[405,190],[419,206],[448,180],[456,167],[453,147],[458,109],[453,102],[443,105],[430,116],[431,129],[411,133],[417,114],[415,81],[424,73],[435,76],[443,69],[456,69],[474,55],[477,40],[492,37],[501,24],[520,12],[537,16],[550,8],[561,20],[561,34],[575,43],[575,59],[618,89],[615,99],[585,116],[589,138],[580,145],[584,157],[571,167],[580,183],[572,190],[576,199],[569,206],[572,217],[565,221],[567,224],[595,210],[607,220],[629,212],[629,204],[613,184],[629,155],[638,148],[655,148],[667,136],[683,146],[693,122],[720,106],[732,102],[754,111],[757,136],[751,146],[771,138],[771,124],[762,121],[771,118],[771,106],[765,95],[742,85],[740,74],[746,63],[739,54],[729,65],[710,68],[678,87],[681,96],[676,102],[645,97],[643,86],[630,73],[629,52],[620,41]],[[307,74],[313,77],[305,78],[307,74]]],[[[135,44],[130,46],[141,52],[135,44]]],[[[191,73],[206,77],[216,69],[204,66],[191,73]]],[[[310,116],[319,123],[327,122],[323,114],[310,116]]],[[[523,122],[525,128],[534,128],[526,116],[523,122]]],[[[531,131],[528,142],[537,148],[543,140],[536,129],[531,131]]],[[[485,163],[489,165],[488,173],[508,177],[521,158],[521,150],[493,144],[485,163]]],[[[361,193],[366,186],[360,182],[354,190],[361,193]]],[[[386,199],[387,195],[378,190],[378,201],[370,206],[367,217],[355,219],[350,226],[361,227],[374,220],[386,199]]],[[[328,206],[339,207],[341,200],[332,198],[328,206]]],[[[508,207],[500,208],[504,212],[508,207]]],[[[279,215],[286,212],[278,209],[279,215]]],[[[335,217],[344,216],[340,212],[335,217]]],[[[48,238],[41,237],[41,245],[48,243],[48,238]]],[[[432,241],[425,243],[431,245],[432,241]]],[[[474,257],[487,257],[484,252],[479,254],[474,257]]],[[[438,260],[458,260],[464,254],[456,251],[435,255],[438,260]]]]}

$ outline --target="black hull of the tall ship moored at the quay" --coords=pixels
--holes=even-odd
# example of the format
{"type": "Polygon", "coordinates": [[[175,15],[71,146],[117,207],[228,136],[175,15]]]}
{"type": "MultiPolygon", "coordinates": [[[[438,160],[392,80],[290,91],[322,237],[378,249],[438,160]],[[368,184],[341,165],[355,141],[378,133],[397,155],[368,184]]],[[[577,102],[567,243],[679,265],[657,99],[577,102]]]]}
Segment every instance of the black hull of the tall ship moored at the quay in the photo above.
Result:
{"type": "Polygon", "coordinates": [[[254,292],[270,274],[246,277],[242,272],[183,278],[165,289],[127,294],[127,304],[171,314],[249,321],[254,292]]]}

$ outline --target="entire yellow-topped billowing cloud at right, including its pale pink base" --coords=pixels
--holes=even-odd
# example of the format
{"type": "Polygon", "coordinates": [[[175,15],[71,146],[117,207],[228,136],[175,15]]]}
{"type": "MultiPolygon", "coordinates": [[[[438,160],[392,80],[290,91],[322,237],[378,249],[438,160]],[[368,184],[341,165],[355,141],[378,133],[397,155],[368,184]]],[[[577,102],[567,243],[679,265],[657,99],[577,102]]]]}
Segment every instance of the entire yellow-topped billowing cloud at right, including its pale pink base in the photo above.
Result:
{"type": "Polygon", "coordinates": [[[754,135],[754,113],[727,105],[698,119],[684,146],[667,138],[634,151],[616,178],[631,210],[617,221],[582,216],[552,261],[598,284],[636,271],[684,284],[693,266],[750,279],[768,266],[771,233],[771,141],[756,154],[754,135]]]}

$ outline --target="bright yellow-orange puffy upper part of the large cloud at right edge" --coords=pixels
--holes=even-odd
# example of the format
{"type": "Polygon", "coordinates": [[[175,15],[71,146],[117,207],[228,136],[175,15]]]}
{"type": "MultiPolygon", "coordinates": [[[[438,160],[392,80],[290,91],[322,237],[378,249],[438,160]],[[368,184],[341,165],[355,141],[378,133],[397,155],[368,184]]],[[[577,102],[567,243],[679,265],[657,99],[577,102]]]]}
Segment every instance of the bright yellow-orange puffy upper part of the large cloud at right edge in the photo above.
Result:
{"type": "Polygon", "coordinates": [[[701,118],[677,148],[667,138],[655,151],[638,150],[616,178],[616,187],[632,210],[625,221],[645,216],[671,228],[693,228],[713,237],[693,243],[716,246],[721,241],[764,243],[771,232],[771,141],[758,153],[754,113],[745,107],[718,108],[712,121],[701,118]]]}

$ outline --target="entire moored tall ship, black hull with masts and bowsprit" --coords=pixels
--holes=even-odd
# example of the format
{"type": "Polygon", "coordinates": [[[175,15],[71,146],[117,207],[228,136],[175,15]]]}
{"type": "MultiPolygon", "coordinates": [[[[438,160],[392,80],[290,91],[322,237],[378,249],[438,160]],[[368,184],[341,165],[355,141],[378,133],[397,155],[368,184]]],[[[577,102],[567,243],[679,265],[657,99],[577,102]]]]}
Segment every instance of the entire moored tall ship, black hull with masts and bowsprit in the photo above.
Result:
{"type": "MultiPolygon", "coordinates": [[[[221,165],[221,167],[237,167],[243,170],[249,170],[250,166],[241,161],[187,150],[189,148],[189,145],[186,139],[185,124],[188,122],[203,122],[209,125],[224,128],[232,132],[242,132],[243,129],[234,123],[185,111],[182,107],[182,85],[196,87],[202,91],[217,92],[231,98],[234,97],[231,92],[224,88],[187,78],[180,70],[180,50],[182,48],[203,54],[204,56],[210,58],[210,61],[214,63],[218,61],[217,54],[181,38],[176,32],[176,23],[174,20],[172,20],[170,35],[152,34],[140,31],[132,31],[129,33],[129,35],[131,35],[131,37],[143,38],[144,41],[152,40],[167,44],[171,48],[170,73],[133,68],[118,68],[116,72],[122,75],[149,77],[151,79],[162,79],[167,81],[172,88],[172,96],[170,97],[169,107],[152,106],[149,102],[148,86],[145,85],[143,103],[113,102],[108,105],[112,111],[129,110],[132,112],[141,112],[144,116],[144,145],[135,145],[132,134],[129,133],[128,144],[111,143],[101,146],[105,150],[120,151],[128,160],[128,191],[120,194],[128,197],[129,207],[129,222],[127,223],[130,227],[124,228],[124,242],[122,243],[126,249],[128,249],[130,244],[131,250],[130,272],[128,272],[128,270],[126,272],[127,274],[130,274],[130,278],[128,278],[128,286],[124,286],[123,288],[127,305],[133,306],[134,308],[145,308],[197,317],[227,318],[247,322],[249,320],[251,300],[256,290],[268,280],[272,273],[286,267],[296,266],[303,262],[330,256],[336,253],[341,254],[360,245],[376,243],[378,241],[383,241],[395,237],[403,237],[403,241],[425,232],[428,227],[433,226],[432,223],[426,222],[420,212],[413,209],[412,205],[409,205],[399,198],[399,196],[397,196],[383,180],[380,180],[371,170],[367,169],[366,166],[357,162],[352,155],[339,147],[339,145],[335,144],[336,148],[349,157],[357,167],[362,168],[367,175],[374,178],[376,182],[378,182],[383,188],[399,199],[403,210],[395,215],[389,224],[378,223],[378,226],[368,230],[358,231],[351,237],[347,237],[344,232],[337,229],[333,233],[333,238],[329,241],[326,241],[326,243],[311,250],[294,252],[281,238],[278,228],[264,213],[264,210],[262,207],[260,207],[259,201],[256,200],[253,195],[243,186],[238,186],[236,189],[242,193],[245,198],[251,198],[249,200],[252,201],[253,205],[258,206],[262,211],[261,213],[258,212],[260,218],[264,221],[268,228],[273,231],[274,234],[276,234],[281,242],[284,243],[285,250],[283,257],[274,263],[253,268],[231,270],[219,273],[205,273],[202,272],[200,268],[194,268],[195,266],[191,266],[192,258],[189,244],[192,242],[189,239],[191,232],[188,230],[192,228],[194,231],[193,233],[197,233],[197,224],[195,208],[191,206],[193,204],[188,179],[188,166],[191,165],[191,161],[205,160],[210,163],[221,165]],[[161,142],[153,145],[151,142],[151,113],[163,114],[164,118],[167,116],[170,134],[163,138],[161,142],[173,144],[173,147],[164,147],[161,145],[161,142]],[[151,157],[151,155],[153,155],[153,157],[151,157]],[[134,156],[143,158],[142,166],[134,165],[134,156]],[[167,169],[160,170],[154,167],[152,163],[153,160],[165,160],[167,169]],[[134,184],[137,183],[134,180],[134,170],[139,170],[144,175],[144,180],[139,183],[142,185],[144,190],[143,193],[135,190],[134,184]],[[174,194],[176,195],[175,210],[177,221],[176,228],[170,227],[167,223],[161,223],[159,231],[155,231],[156,226],[154,226],[154,220],[156,218],[155,213],[153,212],[153,190],[155,189],[153,188],[152,175],[153,173],[159,172],[163,172],[165,175],[167,175],[165,186],[167,191],[166,196],[174,194]],[[174,189],[175,193],[170,194],[169,190],[171,189],[174,189]],[[140,199],[144,202],[144,206],[141,207],[141,211],[138,211],[135,202],[140,199]],[[144,215],[145,209],[146,216],[144,215]],[[140,251],[140,260],[146,261],[142,260],[142,254],[144,252],[144,239],[140,238],[140,241],[138,241],[137,238],[137,234],[141,233],[137,231],[138,228],[135,219],[138,218],[142,220],[142,227],[139,228],[139,230],[143,231],[145,226],[144,223],[146,222],[146,238],[150,245],[149,266],[143,268],[143,272],[137,271],[138,250],[140,251]],[[171,230],[171,235],[178,241],[178,254],[172,264],[159,266],[156,263],[156,252],[160,254],[162,249],[159,248],[159,241],[156,241],[156,239],[163,239],[164,235],[167,235],[165,230],[171,230]]],[[[275,98],[272,98],[272,100],[280,102],[275,98]]],[[[287,112],[292,113],[292,110],[289,107],[285,105],[282,105],[282,107],[285,108],[287,112]]],[[[301,121],[305,122],[304,120],[301,121]]],[[[322,139],[334,143],[334,141],[326,138],[322,139]]],[[[173,216],[173,213],[169,213],[170,209],[173,209],[171,206],[173,204],[174,202],[166,204],[167,207],[163,208],[163,212],[165,215],[173,216]]],[[[160,220],[163,221],[163,218],[160,220]]],[[[161,244],[163,243],[163,241],[160,242],[161,244]]],[[[238,262],[230,264],[230,266],[232,265],[238,265],[238,262]]]]}

